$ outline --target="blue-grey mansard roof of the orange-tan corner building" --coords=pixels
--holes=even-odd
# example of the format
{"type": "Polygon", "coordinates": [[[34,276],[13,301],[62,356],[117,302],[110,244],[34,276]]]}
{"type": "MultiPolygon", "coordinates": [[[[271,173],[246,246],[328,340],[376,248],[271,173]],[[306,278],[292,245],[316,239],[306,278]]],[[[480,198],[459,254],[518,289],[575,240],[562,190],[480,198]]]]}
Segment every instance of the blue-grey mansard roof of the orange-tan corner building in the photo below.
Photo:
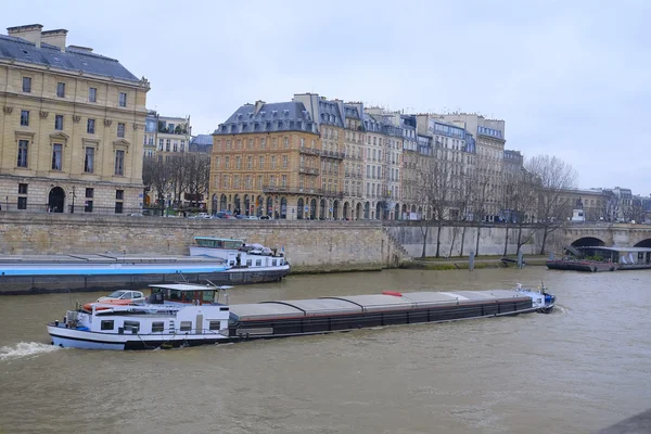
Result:
{"type": "Polygon", "coordinates": [[[317,133],[317,125],[302,102],[244,104],[215,130],[215,135],[305,131],[317,133]]]}

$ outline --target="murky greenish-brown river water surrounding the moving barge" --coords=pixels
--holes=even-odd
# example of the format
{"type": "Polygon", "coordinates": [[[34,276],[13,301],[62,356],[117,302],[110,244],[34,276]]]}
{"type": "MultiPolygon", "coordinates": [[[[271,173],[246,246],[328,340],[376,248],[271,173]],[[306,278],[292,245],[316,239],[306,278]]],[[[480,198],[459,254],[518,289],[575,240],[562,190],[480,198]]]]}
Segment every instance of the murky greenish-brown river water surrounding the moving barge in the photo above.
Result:
{"type": "Polygon", "coordinates": [[[651,271],[290,277],[231,303],[537,285],[551,315],[155,352],[61,349],[102,294],[0,297],[0,433],[589,433],[651,408],[651,271]]]}

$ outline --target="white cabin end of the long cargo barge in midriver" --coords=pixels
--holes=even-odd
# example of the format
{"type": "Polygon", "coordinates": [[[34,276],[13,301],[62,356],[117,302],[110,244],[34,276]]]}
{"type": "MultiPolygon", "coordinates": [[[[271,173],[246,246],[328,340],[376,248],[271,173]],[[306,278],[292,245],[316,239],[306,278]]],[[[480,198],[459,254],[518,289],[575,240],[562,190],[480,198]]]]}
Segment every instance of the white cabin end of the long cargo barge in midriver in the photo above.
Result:
{"type": "Polygon", "coordinates": [[[62,321],[48,324],[48,333],[53,345],[89,349],[154,349],[227,342],[229,307],[218,298],[220,290],[230,288],[154,284],[144,302],[89,303],[68,310],[62,321]]]}

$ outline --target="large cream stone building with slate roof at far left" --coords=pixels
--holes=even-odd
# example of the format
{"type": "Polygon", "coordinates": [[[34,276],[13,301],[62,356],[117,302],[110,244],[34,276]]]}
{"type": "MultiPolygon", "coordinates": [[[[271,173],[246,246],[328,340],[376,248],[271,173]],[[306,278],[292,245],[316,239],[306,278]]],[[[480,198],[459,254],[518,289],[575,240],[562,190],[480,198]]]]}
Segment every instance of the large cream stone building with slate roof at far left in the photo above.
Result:
{"type": "Polygon", "coordinates": [[[120,214],[142,208],[149,82],[35,24],[0,35],[4,209],[120,214]]]}

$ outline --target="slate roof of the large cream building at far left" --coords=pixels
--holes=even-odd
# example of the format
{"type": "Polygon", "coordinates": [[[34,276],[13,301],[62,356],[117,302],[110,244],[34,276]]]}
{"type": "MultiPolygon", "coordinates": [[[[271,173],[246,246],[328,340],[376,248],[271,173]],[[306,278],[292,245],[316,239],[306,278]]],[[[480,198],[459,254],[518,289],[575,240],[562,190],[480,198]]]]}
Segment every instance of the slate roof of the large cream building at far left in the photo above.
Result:
{"type": "Polygon", "coordinates": [[[41,42],[40,48],[37,48],[34,42],[7,35],[0,35],[0,59],[84,72],[120,80],[140,81],[115,59],[74,47],[67,47],[63,52],[59,47],[41,42]]]}

